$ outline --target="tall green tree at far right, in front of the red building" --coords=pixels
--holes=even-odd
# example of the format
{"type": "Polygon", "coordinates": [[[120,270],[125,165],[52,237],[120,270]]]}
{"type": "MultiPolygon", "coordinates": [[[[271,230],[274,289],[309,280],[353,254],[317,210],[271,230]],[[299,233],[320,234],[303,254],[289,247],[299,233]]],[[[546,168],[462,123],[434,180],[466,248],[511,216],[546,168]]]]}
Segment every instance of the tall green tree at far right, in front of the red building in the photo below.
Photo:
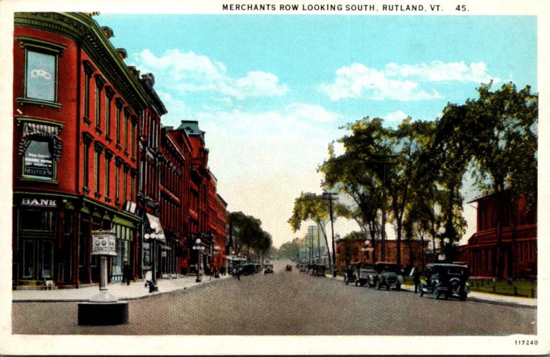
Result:
{"type": "Polygon", "coordinates": [[[483,191],[492,191],[495,200],[496,275],[502,278],[503,211],[513,211],[511,203],[521,195],[527,196],[531,207],[536,205],[538,95],[529,86],[518,91],[511,82],[494,92],[491,87],[492,83],[482,85],[478,99],[467,100],[465,108],[467,122],[478,124],[472,138],[475,183],[483,191]]]}

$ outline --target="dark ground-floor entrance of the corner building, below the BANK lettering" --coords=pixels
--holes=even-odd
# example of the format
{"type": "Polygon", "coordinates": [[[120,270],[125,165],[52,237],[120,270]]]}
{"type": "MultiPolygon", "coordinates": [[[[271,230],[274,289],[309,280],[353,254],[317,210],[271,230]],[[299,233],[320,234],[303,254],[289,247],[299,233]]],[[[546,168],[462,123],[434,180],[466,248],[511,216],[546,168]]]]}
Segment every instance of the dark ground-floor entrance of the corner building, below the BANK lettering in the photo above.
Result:
{"type": "Polygon", "coordinates": [[[54,241],[23,240],[24,280],[54,279],[54,241]]]}

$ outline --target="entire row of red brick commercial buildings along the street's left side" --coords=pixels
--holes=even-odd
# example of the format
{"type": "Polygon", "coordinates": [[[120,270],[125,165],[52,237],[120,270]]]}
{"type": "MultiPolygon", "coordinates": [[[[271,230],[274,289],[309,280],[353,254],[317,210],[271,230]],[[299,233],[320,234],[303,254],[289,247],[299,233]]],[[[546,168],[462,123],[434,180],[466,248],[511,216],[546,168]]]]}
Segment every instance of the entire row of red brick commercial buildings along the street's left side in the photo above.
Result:
{"type": "Polygon", "coordinates": [[[163,128],[151,73],[124,64],[90,14],[14,16],[14,286],[96,284],[91,233],[111,230],[109,279],[225,266],[227,203],[198,122],[163,128]],[[196,266],[196,265],[195,265],[196,266]]]}

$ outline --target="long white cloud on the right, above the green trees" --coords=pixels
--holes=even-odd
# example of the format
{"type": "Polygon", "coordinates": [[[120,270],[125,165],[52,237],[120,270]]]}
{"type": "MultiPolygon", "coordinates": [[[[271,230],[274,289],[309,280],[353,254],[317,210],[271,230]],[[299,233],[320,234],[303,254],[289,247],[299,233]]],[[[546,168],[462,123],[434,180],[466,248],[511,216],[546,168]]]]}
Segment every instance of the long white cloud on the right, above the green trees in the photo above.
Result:
{"type": "Polygon", "coordinates": [[[369,100],[429,100],[441,98],[434,89],[423,89],[421,84],[435,82],[499,82],[487,73],[484,62],[444,63],[434,60],[429,64],[397,65],[391,62],[384,69],[373,69],[353,63],[336,71],[332,83],[320,84],[320,91],[331,100],[362,98],[369,100]]]}

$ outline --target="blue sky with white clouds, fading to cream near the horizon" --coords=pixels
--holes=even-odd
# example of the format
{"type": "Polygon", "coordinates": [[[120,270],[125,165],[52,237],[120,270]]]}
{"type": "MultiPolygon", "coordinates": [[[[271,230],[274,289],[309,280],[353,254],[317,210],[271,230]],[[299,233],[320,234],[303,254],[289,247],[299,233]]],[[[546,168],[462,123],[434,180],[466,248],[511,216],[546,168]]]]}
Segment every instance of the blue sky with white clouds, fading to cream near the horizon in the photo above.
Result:
{"type": "MultiPolygon", "coordinates": [[[[109,14],[127,65],[155,76],[164,126],[198,120],[228,211],[259,218],[274,246],[302,238],[287,220],[345,124],[433,120],[492,80],[537,84],[536,16],[109,14]]],[[[462,242],[479,192],[465,182],[462,242]]],[[[327,225],[329,228],[329,225],[327,225]]],[[[335,234],[358,230],[338,219],[335,234]]],[[[386,228],[392,237],[391,226],[386,228]]]]}

